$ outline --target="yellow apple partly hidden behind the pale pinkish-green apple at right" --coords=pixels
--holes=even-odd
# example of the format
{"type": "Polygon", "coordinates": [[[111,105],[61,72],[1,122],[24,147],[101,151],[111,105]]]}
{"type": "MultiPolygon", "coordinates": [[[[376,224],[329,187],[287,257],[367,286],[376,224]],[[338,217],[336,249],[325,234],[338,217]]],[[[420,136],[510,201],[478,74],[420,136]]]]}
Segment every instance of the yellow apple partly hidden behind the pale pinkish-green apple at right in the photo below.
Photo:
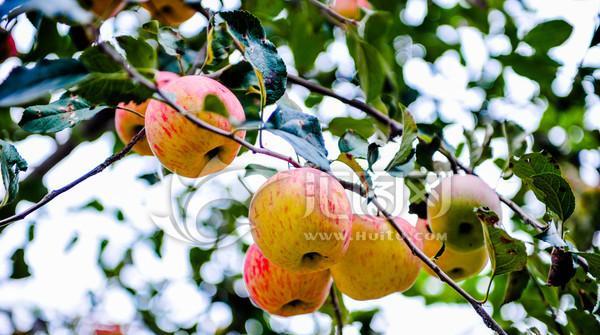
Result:
{"type": "MultiPolygon", "coordinates": [[[[427,220],[419,219],[417,230],[423,236],[423,252],[428,257],[434,257],[442,248],[442,241],[431,233],[427,220]]],[[[446,245],[442,255],[433,260],[450,278],[455,281],[465,280],[479,274],[488,263],[488,253],[485,246],[468,252],[453,250],[446,245]]],[[[431,276],[437,277],[429,267],[423,267],[431,276]]]]}

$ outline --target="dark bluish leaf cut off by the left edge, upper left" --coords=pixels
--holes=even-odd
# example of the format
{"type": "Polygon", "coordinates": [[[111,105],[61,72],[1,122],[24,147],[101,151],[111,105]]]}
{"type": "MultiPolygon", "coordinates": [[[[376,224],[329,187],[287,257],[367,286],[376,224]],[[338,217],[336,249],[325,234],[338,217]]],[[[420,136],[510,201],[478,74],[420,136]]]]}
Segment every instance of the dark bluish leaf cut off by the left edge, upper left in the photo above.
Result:
{"type": "Polygon", "coordinates": [[[0,84],[0,107],[19,106],[85,78],[85,67],[75,59],[41,60],[34,67],[20,66],[0,84]]]}

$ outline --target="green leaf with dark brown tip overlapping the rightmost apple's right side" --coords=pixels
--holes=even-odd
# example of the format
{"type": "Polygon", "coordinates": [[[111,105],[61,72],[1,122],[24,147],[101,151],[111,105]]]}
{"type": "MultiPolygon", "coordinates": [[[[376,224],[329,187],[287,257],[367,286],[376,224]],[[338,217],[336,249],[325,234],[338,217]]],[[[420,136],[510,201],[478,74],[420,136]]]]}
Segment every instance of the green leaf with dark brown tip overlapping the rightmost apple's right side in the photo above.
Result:
{"type": "Polygon", "coordinates": [[[499,226],[499,218],[491,210],[478,208],[477,217],[483,225],[486,247],[492,265],[492,277],[521,271],[527,265],[523,241],[512,238],[499,226]]]}

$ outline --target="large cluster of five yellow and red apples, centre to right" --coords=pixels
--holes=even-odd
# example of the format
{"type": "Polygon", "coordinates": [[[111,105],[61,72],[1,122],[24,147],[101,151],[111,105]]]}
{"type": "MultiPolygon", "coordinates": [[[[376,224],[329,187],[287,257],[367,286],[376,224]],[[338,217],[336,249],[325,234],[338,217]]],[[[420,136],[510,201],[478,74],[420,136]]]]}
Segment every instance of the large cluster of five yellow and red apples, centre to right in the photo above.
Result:
{"type": "MultiPolygon", "coordinates": [[[[496,193],[475,176],[443,179],[428,200],[429,220],[396,224],[450,277],[462,280],[487,264],[478,207],[500,213],[496,193]],[[444,240],[437,237],[445,237],[444,240]]],[[[250,298],[265,311],[291,316],[325,302],[332,280],[356,300],[408,290],[421,261],[384,217],[352,214],[342,185],[312,168],[271,177],[250,204],[256,244],[246,254],[244,281],[250,298]]],[[[435,276],[431,270],[426,269],[435,276]]]]}

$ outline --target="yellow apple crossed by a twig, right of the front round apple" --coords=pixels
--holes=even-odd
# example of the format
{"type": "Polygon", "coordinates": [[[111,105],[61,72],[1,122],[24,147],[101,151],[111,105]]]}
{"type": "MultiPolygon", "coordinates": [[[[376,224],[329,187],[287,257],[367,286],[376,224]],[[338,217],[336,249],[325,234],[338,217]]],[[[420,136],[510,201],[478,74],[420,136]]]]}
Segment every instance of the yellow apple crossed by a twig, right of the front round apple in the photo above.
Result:
{"type": "MultiPolygon", "coordinates": [[[[402,231],[419,248],[422,241],[415,227],[395,218],[402,231]]],[[[356,300],[370,300],[408,290],[417,279],[421,261],[384,217],[354,215],[352,240],[346,255],[331,267],[342,293],[356,300]]]]}

